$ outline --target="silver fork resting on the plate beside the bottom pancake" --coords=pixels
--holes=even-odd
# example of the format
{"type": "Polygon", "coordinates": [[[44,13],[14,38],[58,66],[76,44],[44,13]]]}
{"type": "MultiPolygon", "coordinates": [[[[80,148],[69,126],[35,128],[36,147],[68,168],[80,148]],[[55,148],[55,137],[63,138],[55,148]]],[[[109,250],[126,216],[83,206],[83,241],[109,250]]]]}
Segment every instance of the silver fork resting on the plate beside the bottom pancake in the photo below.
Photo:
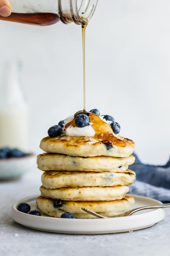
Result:
{"type": "MultiPolygon", "coordinates": [[[[150,206],[145,206],[145,207],[139,207],[139,208],[135,208],[135,209],[133,209],[133,210],[124,212],[124,213],[122,213],[122,214],[117,214],[117,215],[112,216],[112,217],[131,216],[133,213],[139,212],[139,211],[141,211],[141,210],[156,209],[156,208],[166,208],[166,207],[170,207],[170,203],[169,203],[169,204],[162,204],[162,205],[150,205],[150,206]]],[[[105,216],[102,216],[102,215],[98,214],[97,212],[88,210],[88,209],[86,209],[86,208],[84,208],[84,207],[82,207],[82,210],[84,210],[85,212],[87,212],[87,213],[89,213],[89,214],[92,214],[93,216],[98,217],[98,218],[108,218],[108,217],[105,217],[105,216]]]]}

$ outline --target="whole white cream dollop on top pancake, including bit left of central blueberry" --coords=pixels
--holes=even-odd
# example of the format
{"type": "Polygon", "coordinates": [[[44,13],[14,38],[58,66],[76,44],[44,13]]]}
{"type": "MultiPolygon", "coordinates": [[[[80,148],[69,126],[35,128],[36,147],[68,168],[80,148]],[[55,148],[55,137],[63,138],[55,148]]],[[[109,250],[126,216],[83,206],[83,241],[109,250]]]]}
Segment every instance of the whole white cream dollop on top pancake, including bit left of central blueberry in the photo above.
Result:
{"type": "MultiPolygon", "coordinates": [[[[65,119],[65,125],[69,123],[71,120],[73,120],[74,116],[70,115],[65,119]]],[[[92,127],[92,124],[89,124],[88,126],[85,127],[73,127],[69,126],[65,129],[65,125],[63,127],[63,133],[67,136],[86,136],[86,137],[94,137],[95,136],[95,130],[92,127]]]]}

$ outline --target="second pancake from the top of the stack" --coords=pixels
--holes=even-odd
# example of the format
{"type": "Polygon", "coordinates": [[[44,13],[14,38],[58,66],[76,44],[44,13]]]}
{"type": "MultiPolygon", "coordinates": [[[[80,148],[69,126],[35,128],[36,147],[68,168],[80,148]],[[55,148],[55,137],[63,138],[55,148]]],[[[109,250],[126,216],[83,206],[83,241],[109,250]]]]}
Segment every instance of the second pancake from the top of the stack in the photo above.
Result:
{"type": "Polygon", "coordinates": [[[132,155],[79,157],[44,153],[37,156],[37,165],[42,171],[124,172],[134,162],[132,155]]]}

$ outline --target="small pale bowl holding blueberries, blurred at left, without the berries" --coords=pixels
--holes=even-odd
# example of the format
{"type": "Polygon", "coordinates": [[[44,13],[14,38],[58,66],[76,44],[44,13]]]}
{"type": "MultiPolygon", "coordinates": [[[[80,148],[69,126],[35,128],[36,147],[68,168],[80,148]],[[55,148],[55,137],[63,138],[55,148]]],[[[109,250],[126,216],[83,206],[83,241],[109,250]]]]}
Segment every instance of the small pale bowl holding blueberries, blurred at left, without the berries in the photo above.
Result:
{"type": "Polygon", "coordinates": [[[0,179],[14,179],[28,172],[35,165],[35,155],[0,159],[0,179]]]}

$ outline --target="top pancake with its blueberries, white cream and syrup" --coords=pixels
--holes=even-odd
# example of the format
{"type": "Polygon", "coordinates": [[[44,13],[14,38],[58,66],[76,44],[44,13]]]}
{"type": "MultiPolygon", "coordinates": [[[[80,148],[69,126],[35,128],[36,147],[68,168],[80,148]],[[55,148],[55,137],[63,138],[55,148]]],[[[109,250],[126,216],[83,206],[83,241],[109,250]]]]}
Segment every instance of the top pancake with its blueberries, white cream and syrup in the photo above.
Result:
{"type": "Polygon", "coordinates": [[[130,156],[135,143],[118,136],[119,132],[120,125],[113,117],[80,111],[50,127],[49,137],[42,139],[40,148],[45,152],[81,157],[130,156]]]}

